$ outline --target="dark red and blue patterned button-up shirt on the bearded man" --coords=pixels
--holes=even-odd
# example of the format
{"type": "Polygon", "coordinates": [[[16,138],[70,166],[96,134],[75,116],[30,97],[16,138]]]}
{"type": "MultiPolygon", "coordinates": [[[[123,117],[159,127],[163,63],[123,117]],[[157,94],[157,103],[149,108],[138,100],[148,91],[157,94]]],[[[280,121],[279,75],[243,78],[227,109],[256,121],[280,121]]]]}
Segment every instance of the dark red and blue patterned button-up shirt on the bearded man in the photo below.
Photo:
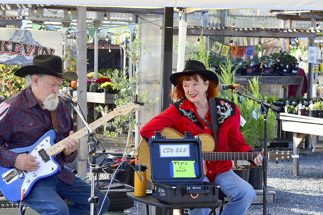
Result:
{"type": "MultiPolygon", "coordinates": [[[[74,122],[68,107],[62,101],[59,101],[56,115],[58,134],[56,134],[55,143],[68,137],[69,132],[74,129],[74,122]]],[[[41,109],[30,87],[1,103],[0,165],[6,167],[14,166],[18,154],[9,150],[30,146],[51,129],[53,129],[53,124],[50,112],[41,109]]],[[[75,175],[70,171],[63,170],[64,163],[74,161],[76,156],[77,151],[68,156],[61,152],[55,158],[62,169],[57,174],[57,177],[70,185],[73,185],[75,175]]]]}

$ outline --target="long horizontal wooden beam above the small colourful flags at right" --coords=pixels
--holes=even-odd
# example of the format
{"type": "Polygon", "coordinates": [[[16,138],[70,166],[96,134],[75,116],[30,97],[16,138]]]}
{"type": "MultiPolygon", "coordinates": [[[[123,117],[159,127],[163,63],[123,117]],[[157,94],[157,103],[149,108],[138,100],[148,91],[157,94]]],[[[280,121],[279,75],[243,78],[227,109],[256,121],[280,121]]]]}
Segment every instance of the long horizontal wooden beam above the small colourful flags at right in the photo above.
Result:
{"type": "MultiPolygon", "coordinates": [[[[174,35],[178,35],[178,28],[174,27],[174,35]]],[[[202,29],[187,28],[187,34],[190,36],[199,36],[202,29]]],[[[233,37],[264,37],[264,38],[297,38],[297,37],[316,37],[316,32],[277,32],[277,31],[257,31],[257,30],[230,30],[230,29],[203,29],[204,36],[233,36],[233,37]]]]}

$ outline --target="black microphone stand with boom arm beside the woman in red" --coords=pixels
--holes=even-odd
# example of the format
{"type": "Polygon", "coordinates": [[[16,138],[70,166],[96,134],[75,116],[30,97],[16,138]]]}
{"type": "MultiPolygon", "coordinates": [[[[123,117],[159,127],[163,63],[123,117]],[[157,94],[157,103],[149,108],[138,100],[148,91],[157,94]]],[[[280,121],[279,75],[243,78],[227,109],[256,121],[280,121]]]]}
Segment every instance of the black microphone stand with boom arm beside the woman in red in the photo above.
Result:
{"type": "Polygon", "coordinates": [[[263,162],[262,162],[262,171],[263,171],[263,215],[266,215],[267,212],[267,164],[268,164],[268,158],[267,158],[267,144],[268,144],[268,127],[267,127],[267,113],[268,113],[268,108],[271,108],[273,110],[276,111],[280,111],[280,108],[271,104],[271,103],[267,103],[264,100],[259,100],[253,96],[249,96],[245,93],[242,93],[238,90],[233,89],[232,93],[244,96],[248,99],[254,100],[257,103],[259,103],[261,105],[261,114],[264,115],[264,156],[263,156],[263,162]],[[266,105],[266,107],[265,107],[266,105]]]}

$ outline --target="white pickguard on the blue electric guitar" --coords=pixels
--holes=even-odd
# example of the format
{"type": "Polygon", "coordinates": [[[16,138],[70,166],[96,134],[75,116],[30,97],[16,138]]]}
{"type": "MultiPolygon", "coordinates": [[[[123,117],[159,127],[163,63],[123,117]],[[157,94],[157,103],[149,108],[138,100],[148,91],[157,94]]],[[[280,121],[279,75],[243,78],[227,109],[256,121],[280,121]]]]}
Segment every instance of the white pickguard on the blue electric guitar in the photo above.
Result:
{"type": "Polygon", "coordinates": [[[23,171],[24,173],[24,182],[21,186],[21,190],[25,190],[25,192],[29,189],[30,185],[37,180],[38,178],[42,176],[49,175],[53,173],[55,170],[57,170],[58,166],[56,163],[54,163],[50,157],[50,160],[47,161],[46,163],[42,160],[42,158],[39,156],[38,151],[41,149],[48,149],[51,147],[51,144],[49,142],[50,137],[46,137],[42,142],[40,142],[35,149],[30,152],[29,154],[37,157],[36,162],[40,162],[39,169],[37,171],[23,171]]]}

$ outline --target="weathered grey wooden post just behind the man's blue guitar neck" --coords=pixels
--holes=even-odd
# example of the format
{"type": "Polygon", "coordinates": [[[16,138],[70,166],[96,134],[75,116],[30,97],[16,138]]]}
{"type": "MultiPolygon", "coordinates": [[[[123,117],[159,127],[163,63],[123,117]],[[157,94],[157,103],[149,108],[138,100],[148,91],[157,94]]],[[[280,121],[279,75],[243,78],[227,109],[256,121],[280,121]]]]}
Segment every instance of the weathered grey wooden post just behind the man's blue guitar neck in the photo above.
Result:
{"type": "MultiPolygon", "coordinates": [[[[86,7],[78,6],[77,13],[77,31],[86,30],[86,7]]],[[[78,73],[78,104],[85,116],[88,115],[87,95],[86,95],[86,32],[77,34],[77,73],[78,73]]],[[[80,130],[85,127],[81,118],[78,116],[77,128],[80,130]]],[[[88,137],[82,137],[78,144],[78,176],[86,176],[88,160],[88,137]]]]}

